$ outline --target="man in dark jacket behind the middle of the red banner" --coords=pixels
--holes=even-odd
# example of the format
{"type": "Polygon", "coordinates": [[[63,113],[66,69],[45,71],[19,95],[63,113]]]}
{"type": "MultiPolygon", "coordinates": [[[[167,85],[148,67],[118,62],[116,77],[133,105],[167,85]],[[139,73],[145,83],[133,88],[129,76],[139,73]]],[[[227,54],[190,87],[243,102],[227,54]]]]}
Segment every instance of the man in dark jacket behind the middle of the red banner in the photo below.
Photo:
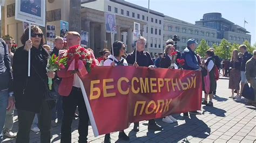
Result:
{"type": "MultiPolygon", "coordinates": [[[[127,55],[126,61],[128,64],[133,65],[135,67],[149,67],[154,68],[154,62],[149,54],[149,52],[145,52],[145,43],[146,39],[140,36],[137,41],[136,49],[130,54],[127,55]],[[135,57],[137,55],[137,58],[135,57]]],[[[147,127],[150,130],[160,131],[162,127],[157,125],[154,119],[149,120],[149,126],[147,127]]],[[[139,131],[139,123],[134,123],[133,131],[139,131]]]]}

